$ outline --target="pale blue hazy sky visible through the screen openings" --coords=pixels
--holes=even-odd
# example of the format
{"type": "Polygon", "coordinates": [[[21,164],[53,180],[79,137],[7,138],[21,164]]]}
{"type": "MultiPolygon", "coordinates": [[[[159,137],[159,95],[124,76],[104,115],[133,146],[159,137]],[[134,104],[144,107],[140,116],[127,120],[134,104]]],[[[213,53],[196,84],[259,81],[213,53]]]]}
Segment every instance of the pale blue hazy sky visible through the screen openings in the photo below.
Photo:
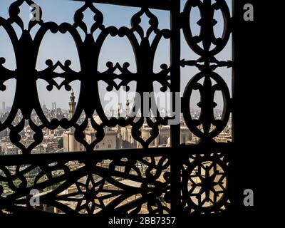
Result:
{"type": "MultiPolygon", "coordinates": [[[[63,22],[73,23],[73,15],[74,12],[79,9],[83,2],[69,1],[69,0],[33,0],[36,4],[40,5],[43,9],[43,21],[54,21],[58,24],[63,22]]],[[[227,0],[229,3],[231,0],[227,0]]],[[[5,19],[9,16],[8,10],[9,5],[13,2],[13,0],[1,0],[0,1],[0,16],[5,19]]],[[[184,6],[184,0],[182,0],[182,6],[184,6]]],[[[110,6],[104,4],[95,4],[95,6],[103,12],[105,26],[128,26],[130,27],[130,18],[135,14],[135,12],[139,11],[138,8],[133,7],[124,7],[124,6],[110,6]]],[[[229,6],[230,9],[232,6],[229,6]]],[[[21,17],[24,19],[25,25],[28,24],[29,19],[29,9],[26,4],[22,6],[21,17]]],[[[153,14],[157,16],[159,19],[159,28],[170,28],[170,14],[167,11],[159,11],[159,10],[151,10],[153,14]]],[[[86,11],[86,23],[91,24],[93,13],[86,11]]],[[[195,24],[195,22],[199,19],[198,11],[194,11],[192,14],[192,25],[195,33],[199,33],[199,26],[195,24]]],[[[215,14],[215,19],[219,21],[219,23],[215,26],[215,34],[222,33],[222,14],[215,14]]],[[[142,25],[147,25],[147,20],[142,20],[142,25]]],[[[20,36],[21,33],[18,31],[17,34],[20,36]]],[[[227,44],[227,47],[224,48],[222,53],[219,53],[217,58],[219,60],[229,60],[231,59],[231,43],[227,44]]],[[[154,71],[157,72],[160,70],[160,65],[162,63],[170,64],[170,41],[164,40],[160,42],[160,45],[157,48],[157,53],[155,56],[155,66],[154,71]]],[[[15,57],[13,47],[11,45],[11,41],[9,41],[9,36],[7,36],[3,27],[0,27],[0,57],[6,58],[6,63],[4,66],[9,69],[15,69],[15,57]]],[[[64,63],[67,59],[70,59],[72,64],[71,68],[76,71],[80,71],[80,64],[78,60],[78,54],[76,51],[76,45],[71,38],[71,35],[66,34],[53,34],[47,33],[43,38],[43,42],[41,43],[41,48],[38,53],[38,61],[36,64],[36,69],[42,70],[46,68],[46,59],[52,59],[53,63],[56,61],[61,61],[64,63]]],[[[182,48],[181,48],[181,59],[185,58],[186,60],[195,60],[198,56],[193,53],[185,39],[182,36],[182,48]]],[[[135,72],[135,56],[133,54],[133,50],[130,46],[130,42],[127,38],[107,38],[103,47],[101,49],[100,58],[99,58],[99,71],[104,71],[106,69],[105,63],[108,61],[112,61],[113,63],[119,62],[129,62],[130,70],[135,72]]],[[[185,67],[181,68],[182,78],[181,78],[181,90],[183,91],[187,82],[192,78],[192,76],[197,73],[197,69],[194,67],[185,67]]],[[[216,71],[219,73],[222,78],[227,82],[229,86],[229,90],[231,90],[231,81],[232,81],[232,70],[229,68],[220,68],[216,71]]],[[[1,77],[1,76],[0,76],[1,77]]],[[[6,81],[5,85],[7,86],[6,91],[2,92],[0,90],[0,103],[2,101],[6,102],[6,105],[11,106],[14,99],[14,90],[16,82],[15,80],[6,81]]],[[[41,103],[45,103],[48,108],[51,108],[51,103],[56,102],[58,107],[67,109],[68,108],[68,100],[70,92],[66,91],[64,88],[61,90],[57,90],[57,88],[53,88],[51,92],[46,90],[47,83],[43,81],[38,81],[38,95],[41,100],[41,103]]],[[[78,88],[80,83],[71,83],[73,86],[73,90],[76,95],[76,100],[78,98],[78,88]]],[[[103,96],[105,88],[102,86],[102,90],[100,90],[101,95],[103,96]]],[[[219,103],[218,108],[221,108],[221,98],[222,96],[217,94],[216,96],[217,102],[219,103]]],[[[199,101],[199,96],[195,95],[194,99],[195,103],[199,101]]],[[[195,106],[194,106],[195,108],[195,106]]],[[[0,107],[1,109],[1,107],[0,107]]]]}

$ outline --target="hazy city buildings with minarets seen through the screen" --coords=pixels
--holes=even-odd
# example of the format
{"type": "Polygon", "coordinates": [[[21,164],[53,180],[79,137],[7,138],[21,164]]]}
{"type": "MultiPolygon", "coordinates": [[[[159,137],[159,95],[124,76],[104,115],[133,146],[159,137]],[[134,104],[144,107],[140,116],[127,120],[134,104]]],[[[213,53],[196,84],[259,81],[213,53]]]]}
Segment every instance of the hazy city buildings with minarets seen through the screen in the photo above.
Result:
{"type": "MultiPolygon", "coordinates": [[[[129,101],[126,103],[126,116],[128,116],[129,112],[129,101]]],[[[76,110],[76,101],[74,93],[71,93],[70,102],[68,103],[69,109],[63,110],[62,108],[58,108],[56,103],[52,103],[51,110],[46,108],[46,105],[43,104],[43,113],[46,117],[51,120],[53,118],[61,119],[61,118],[71,118],[76,110]]],[[[2,102],[2,109],[0,114],[0,121],[3,121],[9,115],[10,107],[6,107],[5,102],[2,102]]],[[[117,113],[114,113],[117,117],[120,116],[121,110],[118,109],[117,113]]],[[[214,114],[215,118],[221,118],[221,111],[216,110],[214,114]]],[[[199,110],[192,109],[192,118],[199,117],[199,110]]],[[[84,114],[81,115],[79,123],[82,123],[85,120],[86,116],[84,114]]],[[[98,115],[93,115],[96,123],[100,123],[100,118],[98,115]]],[[[31,114],[31,119],[33,123],[40,124],[41,120],[39,120],[38,116],[35,112],[31,114]]],[[[21,113],[16,115],[14,120],[14,125],[21,121],[21,113]]],[[[131,134],[132,126],[128,125],[126,127],[116,126],[114,128],[106,127],[104,128],[105,137],[102,141],[100,141],[97,145],[95,145],[94,150],[113,150],[120,148],[140,148],[142,145],[140,142],[135,140],[131,134]]],[[[150,128],[147,123],[142,125],[141,138],[143,140],[147,140],[150,138],[150,132],[152,128],[150,128]]],[[[43,142],[40,145],[33,148],[32,153],[35,152],[74,152],[74,151],[83,151],[86,150],[83,144],[78,142],[74,136],[75,128],[70,128],[68,130],[63,129],[61,127],[56,128],[55,130],[50,130],[47,128],[43,128],[43,142]]],[[[95,140],[95,130],[90,123],[88,123],[88,127],[84,130],[85,140],[89,144],[95,140]]],[[[21,143],[28,147],[33,142],[33,130],[31,130],[28,123],[26,123],[24,130],[19,133],[21,135],[21,143]]],[[[228,142],[232,140],[232,124],[231,118],[229,119],[229,123],[226,128],[220,133],[216,138],[214,138],[218,142],[228,142]]],[[[190,130],[188,130],[187,125],[185,124],[182,115],[181,115],[181,125],[180,125],[180,142],[182,144],[196,144],[199,138],[193,135],[190,130]]],[[[161,125],[159,128],[159,135],[155,140],[150,143],[150,147],[169,147],[170,146],[170,126],[169,125],[161,125]]],[[[1,155],[9,155],[9,154],[19,154],[21,150],[16,145],[12,144],[9,139],[9,129],[2,130],[0,132],[0,154],[1,155]]]]}

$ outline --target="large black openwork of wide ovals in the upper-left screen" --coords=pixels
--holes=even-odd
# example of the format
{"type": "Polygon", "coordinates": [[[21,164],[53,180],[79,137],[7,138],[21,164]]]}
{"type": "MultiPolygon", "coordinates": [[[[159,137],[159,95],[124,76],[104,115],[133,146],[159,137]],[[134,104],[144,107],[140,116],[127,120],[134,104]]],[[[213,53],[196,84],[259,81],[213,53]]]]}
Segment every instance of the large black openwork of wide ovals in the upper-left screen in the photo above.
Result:
{"type": "MultiPolygon", "coordinates": [[[[152,83],[158,81],[162,84],[161,90],[164,91],[167,87],[170,86],[168,80],[170,76],[168,76],[169,68],[167,65],[163,64],[161,66],[162,70],[159,73],[153,73],[153,61],[155,57],[155,50],[160,42],[162,37],[170,38],[169,30],[162,30],[157,28],[158,20],[154,14],[152,14],[149,9],[142,8],[138,11],[137,14],[133,16],[131,19],[131,28],[121,27],[115,28],[114,26],[105,27],[103,25],[103,14],[95,8],[91,1],[86,1],[81,9],[76,11],[74,16],[74,24],[63,23],[57,25],[53,22],[44,23],[43,21],[30,21],[28,24],[28,30],[24,30],[23,22],[19,15],[19,6],[23,3],[23,1],[16,1],[14,4],[11,4],[9,9],[10,18],[8,20],[1,19],[1,26],[5,28],[7,33],[11,38],[11,42],[13,43],[16,55],[16,63],[17,63],[17,71],[9,71],[3,66],[4,58],[2,58],[1,63],[1,75],[4,75],[4,78],[1,78],[1,86],[2,90],[6,89],[3,85],[4,81],[10,78],[16,78],[17,81],[17,90],[14,98],[14,103],[11,108],[11,112],[9,113],[8,118],[1,123],[0,130],[9,128],[11,130],[10,138],[11,142],[14,145],[21,148],[23,153],[30,153],[33,147],[36,147],[41,140],[43,140],[43,128],[55,129],[58,126],[62,128],[75,128],[75,137],[78,142],[81,142],[86,150],[93,150],[95,145],[103,140],[104,138],[104,130],[105,126],[114,127],[115,125],[132,125],[132,134],[135,140],[138,140],[142,147],[147,147],[150,145],[150,142],[154,140],[158,135],[158,126],[161,124],[165,124],[167,119],[161,118],[158,114],[154,120],[150,118],[146,118],[147,124],[152,128],[152,135],[146,141],[140,138],[140,128],[144,123],[144,118],[141,117],[139,120],[135,121],[135,116],[138,116],[138,111],[140,113],[146,112],[144,110],[143,105],[140,105],[139,108],[135,108],[135,105],[130,113],[130,118],[110,118],[108,119],[103,110],[99,92],[98,92],[98,82],[105,81],[108,83],[108,90],[112,90],[114,87],[118,90],[120,87],[126,88],[128,90],[128,83],[130,81],[136,81],[137,88],[136,92],[140,95],[140,103],[143,103],[143,93],[144,92],[153,92],[152,83]],[[86,9],[90,9],[94,13],[94,24],[90,28],[90,32],[86,24],[83,22],[83,12],[86,9]],[[150,27],[147,28],[146,34],[144,35],[143,28],[140,26],[140,17],[142,14],[145,14],[149,19],[150,27]],[[12,24],[16,23],[20,26],[22,30],[21,38],[18,40],[16,38],[16,33],[12,24]],[[31,28],[36,26],[36,24],[40,25],[41,28],[38,29],[38,32],[35,35],[35,38],[31,38],[31,28]],[[81,28],[83,33],[85,34],[85,38],[81,38],[80,33],[78,32],[78,28],[81,28]],[[93,33],[95,31],[100,31],[98,38],[94,40],[93,33]],[[52,33],[70,33],[73,37],[76,46],[78,48],[78,56],[80,58],[81,63],[81,71],[76,72],[70,68],[71,61],[66,61],[65,63],[57,62],[53,63],[51,60],[46,61],[47,68],[43,71],[35,71],[36,66],[36,57],[38,56],[38,50],[41,45],[41,41],[45,34],[51,31],[52,33]],[[140,36],[140,40],[138,40],[134,33],[138,33],[140,36]],[[155,38],[150,43],[150,34],[155,33],[155,38]],[[107,63],[108,70],[99,73],[98,72],[98,58],[100,54],[100,48],[103,46],[103,43],[107,36],[126,36],[130,43],[133,46],[133,50],[136,56],[137,61],[137,73],[132,73],[128,70],[129,63],[124,63],[123,66],[120,66],[119,63],[113,64],[111,62],[107,63]],[[26,61],[28,59],[28,61],[26,61]],[[56,68],[60,67],[63,70],[63,73],[54,72],[56,68]],[[116,70],[119,70],[121,73],[114,73],[116,70]],[[26,77],[26,76],[30,77],[26,77]],[[150,80],[145,80],[145,75],[150,76],[150,80]],[[63,78],[64,80],[60,85],[56,83],[54,78],[63,78]],[[36,81],[38,79],[43,79],[48,82],[47,89],[52,90],[53,86],[60,89],[62,86],[66,88],[66,90],[71,90],[71,86],[69,85],[71,82],[79,80],[81,81],[81,93],[79,95],[78,105],[76,107],[76,111],[71,118],[68,120],[63,118],[61,120],[53,119],[49,121],[46,116],[43,114],[43,110],[38,100],[38,93],[36,88],[36,81]],[[115,79],[120,79],[121,82],[119,85],[115,83],[115,79]],[[90,100],[89,98],[93,98],[90,100]],[[26,105],[25,100],[33,100],[33,103],[29,103],[26,105]],[[88,101],[88,102],[87,102],[88,101]],[[35,111],[38,115],[38,118],[41,120],[42,125],[33,124],[33,120],[31,120],[31,112],[35,111]],[[23,119],[21,122],[13,126],[11,122],[14,120],[16,113],[20,111],[23,115],[23,119]],[[77,120],[80,117],[83,111],[86,113],[86,120],[81,123],[81,125],[77,124],[77,120]],[[96,123],[93,119],[93,113],[96,111],[98,113],[100,120],[102,123],[96,123]],[[135,112],[135,113],[133,113],[135,112]],[[31,126],[31,130],[35,132],[34,139],[31,145],[27,148],[20,142],[19,133],[24,128],[24,120],[28,120],[29,125],[31,126]],[[88,144],[84,140],[83,131],[86,129],[88,125],[88,120],[92,124],[93,128],[96,130],[96,140],[94,140],[91,144],[88,144]]],[[[33,1],[26,1],[30,6],[34,4],[33,1]]],[[[139,100],[138,98],[135,100],[139,100]]],[[[158,110],[157,110],[158,113],[158,110]]]]}

